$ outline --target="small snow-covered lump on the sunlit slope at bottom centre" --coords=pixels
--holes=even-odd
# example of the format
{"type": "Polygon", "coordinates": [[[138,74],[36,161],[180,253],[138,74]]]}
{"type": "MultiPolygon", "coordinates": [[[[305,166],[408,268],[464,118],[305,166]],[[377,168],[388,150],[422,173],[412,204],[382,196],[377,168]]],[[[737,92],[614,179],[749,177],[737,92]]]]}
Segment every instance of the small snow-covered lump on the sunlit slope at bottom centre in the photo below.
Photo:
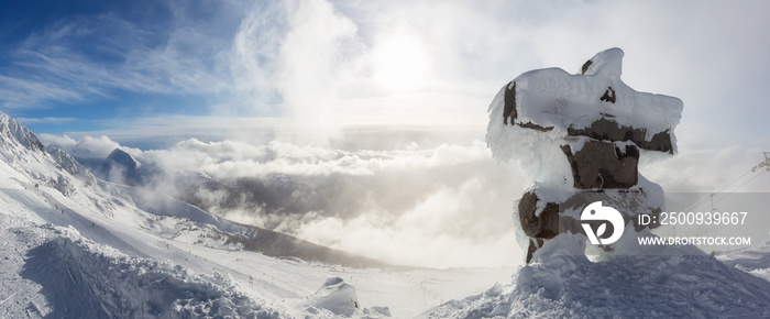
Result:
{"type": "Polygon", "coordinates": [[[310,298],[314,307],[327,309],[338,316],[352,316],[359,309],[355,287],[340,277],[328,278],[310,298]]]}

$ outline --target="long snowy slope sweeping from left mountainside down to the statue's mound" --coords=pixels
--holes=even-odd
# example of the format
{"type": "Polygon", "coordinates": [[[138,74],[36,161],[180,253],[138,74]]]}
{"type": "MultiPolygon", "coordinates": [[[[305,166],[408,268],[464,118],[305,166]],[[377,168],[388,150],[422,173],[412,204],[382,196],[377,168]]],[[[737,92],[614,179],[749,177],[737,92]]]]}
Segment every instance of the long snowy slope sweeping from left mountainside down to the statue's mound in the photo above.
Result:
{"type": "Polygon", "coordinates": [[[348,312],[312,298],[336,277],[355,288],[351,317],[405,318],[510,278],[510,270],[350,268],[271,257],[246,245],[286,241],[95,179],[68,154],[37,147],[33,133],[2,113],[0,139],[2,318],[334,318],[348,312]],[[239,235],[245,240],[232,240],[239,235]]]}

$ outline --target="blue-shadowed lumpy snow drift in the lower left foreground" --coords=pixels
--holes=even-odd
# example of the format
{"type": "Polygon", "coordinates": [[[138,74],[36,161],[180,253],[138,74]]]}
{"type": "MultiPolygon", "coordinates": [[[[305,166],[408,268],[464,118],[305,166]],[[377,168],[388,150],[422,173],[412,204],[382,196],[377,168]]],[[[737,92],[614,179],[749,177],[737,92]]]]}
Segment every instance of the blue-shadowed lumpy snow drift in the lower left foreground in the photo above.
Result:
{"type": "Polygon", "coordinates": [[[197,275],[153,260],[96,245],[77,232],[55,235],[26,253],[23,278],[42,286],[48,305],[40,315],[78,318],[246,317],[278,318],[234,288],[221,274],[197,275]]]}

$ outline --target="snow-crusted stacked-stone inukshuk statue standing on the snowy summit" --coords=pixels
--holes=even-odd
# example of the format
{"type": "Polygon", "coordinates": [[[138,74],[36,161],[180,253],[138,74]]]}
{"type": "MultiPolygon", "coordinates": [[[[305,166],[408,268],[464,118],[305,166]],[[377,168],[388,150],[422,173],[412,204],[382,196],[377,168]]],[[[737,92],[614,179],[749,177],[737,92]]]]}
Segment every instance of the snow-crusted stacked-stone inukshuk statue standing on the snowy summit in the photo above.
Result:
{"type": "Polygon", "coordinates": [[[628,87],[620,80],[623,56],[620,48],[606,50],[575,75],[561,68],[525,73],[490,106],[493,156],[517,160],[530,179],[514,205],[514,220],[529,238],[527,263],[560,233],[583,233],[587,204],[614,207],[637,232],[656,226],[639,224],[638,215],[664,208],[662,188],[639,174],[638,163],[640,156],[675,154],[682,101],[628,87]]]}

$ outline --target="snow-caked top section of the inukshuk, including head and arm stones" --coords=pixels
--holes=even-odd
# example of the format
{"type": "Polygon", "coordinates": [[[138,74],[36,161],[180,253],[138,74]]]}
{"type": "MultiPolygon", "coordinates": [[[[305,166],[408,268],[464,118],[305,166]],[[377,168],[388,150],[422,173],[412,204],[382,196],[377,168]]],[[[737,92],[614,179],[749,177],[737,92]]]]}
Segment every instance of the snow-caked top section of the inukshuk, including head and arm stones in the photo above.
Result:
{"type": "Polygon", "coordinates": [[[614,47],[588,59],[578,74],[542,68],[505,85],[488,109],[486,142],[493,156],[543,162],[551,146],[586,138],[675,154],[682,100],[628,87],[620,79],[623,57],[623,50],[614,47]]]}

